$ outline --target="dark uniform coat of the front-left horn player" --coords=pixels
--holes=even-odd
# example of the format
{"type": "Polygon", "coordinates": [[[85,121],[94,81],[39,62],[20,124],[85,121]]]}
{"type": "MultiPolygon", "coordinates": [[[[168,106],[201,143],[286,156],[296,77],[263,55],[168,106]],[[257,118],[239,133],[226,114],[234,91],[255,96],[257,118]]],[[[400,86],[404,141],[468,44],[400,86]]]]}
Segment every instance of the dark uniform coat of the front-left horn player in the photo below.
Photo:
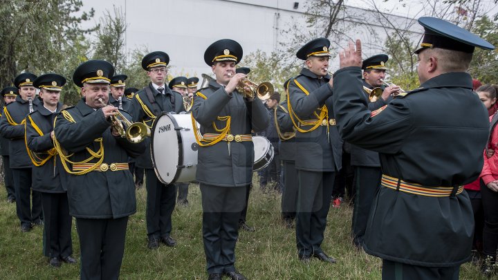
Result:
{"type": "MultiPolygon", "coordinates": [[[[102,138],[104,149],[103,163],[126,163],[128,156],[136,157],[145,151],[145,144],[131,144],[126,138],[111,134],[111,123],[104,118],[101,109],[93,110],[84,99],[76,106],[63,110],[74,122],[67,120],[63,113],[57,115],[55,138],[68,153],[74,153],[70,160],[81,162],[91,156],[86,148],[97,152],[102,138]]],[[[121,111],[127,118],[126,112],[121,111]]],[[[98,162],[93,158],[90,162],[98,162]]],[[[72,165],[68,163],[72,169],[72,165]]],[[[136,212],[135,185],[128,169],[111,171],[90,171],[83,175],[68,174],[69,214],[76,218],[121,218],[136,212]]]]}

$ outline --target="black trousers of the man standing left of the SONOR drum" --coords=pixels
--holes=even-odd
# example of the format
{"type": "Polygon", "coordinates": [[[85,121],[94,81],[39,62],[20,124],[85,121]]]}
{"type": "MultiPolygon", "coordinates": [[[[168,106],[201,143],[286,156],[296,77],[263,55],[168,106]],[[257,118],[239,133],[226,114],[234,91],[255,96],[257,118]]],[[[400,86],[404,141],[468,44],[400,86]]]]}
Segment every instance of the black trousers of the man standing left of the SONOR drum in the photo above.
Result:
{"type": "Polygon", "coordinates": [[[147,179],[147,235],[167,237],[172,231],[172,213],[176,205],[176,187],[165,185],[156,177],[154,169],[145,169],[147,179]]]}

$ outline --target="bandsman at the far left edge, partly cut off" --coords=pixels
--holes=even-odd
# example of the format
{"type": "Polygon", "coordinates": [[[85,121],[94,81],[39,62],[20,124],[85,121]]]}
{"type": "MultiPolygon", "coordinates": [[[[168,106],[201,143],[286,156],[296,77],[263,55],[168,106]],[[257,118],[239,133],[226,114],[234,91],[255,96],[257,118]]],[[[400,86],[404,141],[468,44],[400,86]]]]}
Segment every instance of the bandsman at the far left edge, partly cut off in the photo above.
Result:
{"type": "MultiPolygon", "coordinates": [[[[19,90],[14,86],[7,86],[3,88],[0,92],[1,97],[3,97],[3,106],[1,106],[1,110],[3,112],[3,107],[8,104],[15,102],[15,99],[19,94],[19,90]]],[[[10,169],[10,158],[8,154],[9,150],[9,142],[7,138],[0,136],[0,152],[2,156],[2,165],[3,165],[3,184],[6,186],[7,190],[7,202],[15,203],[15,187],[14,180],[12,179],[12,170],[10,169]]]]}

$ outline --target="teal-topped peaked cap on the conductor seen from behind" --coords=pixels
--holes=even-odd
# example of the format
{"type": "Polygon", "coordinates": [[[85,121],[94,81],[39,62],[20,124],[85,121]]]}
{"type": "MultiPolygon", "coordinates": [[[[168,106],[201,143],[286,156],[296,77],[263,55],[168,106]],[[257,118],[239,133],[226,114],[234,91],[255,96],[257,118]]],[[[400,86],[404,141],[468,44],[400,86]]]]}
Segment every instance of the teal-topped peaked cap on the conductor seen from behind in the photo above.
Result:
{"type": "Polygon", "coordinates": [[[485,50],[495,49],[495,46],[485,39],[443,19],[421,17],[418,19],[418,23],[423,26],[425,32],[421,47],[415,50],[416,54],[426,48],[459,50],[463,53],[473,53],[475,47],[485,50]]]}

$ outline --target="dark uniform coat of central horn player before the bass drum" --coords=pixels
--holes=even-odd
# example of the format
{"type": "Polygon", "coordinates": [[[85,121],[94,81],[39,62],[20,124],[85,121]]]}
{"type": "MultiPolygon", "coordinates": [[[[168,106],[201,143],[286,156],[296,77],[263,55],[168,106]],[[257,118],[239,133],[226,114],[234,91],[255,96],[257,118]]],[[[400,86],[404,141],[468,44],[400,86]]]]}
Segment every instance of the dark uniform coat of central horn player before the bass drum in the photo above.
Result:
{"type": "MultiPolygon", "coordinates": [[[[233,136],[259,132],[268,127],[268,109],[255,99],[247,102],[240,93],[231,95],[220,84],[212,81],[207,88],[194,95],[192,115],[201,124],[201,133],[219,133],[230,116],[230,134],[233,136]],[[204,98],[206,97],[206,98],[204,98]]],[[[252,181],[254,144],[252,141],[221,141],[210,147],[199,147],[196,180],[209,185],[240,187],[252,181]],[[230,144],[229,144],[230,143],[230,144]]]]}

